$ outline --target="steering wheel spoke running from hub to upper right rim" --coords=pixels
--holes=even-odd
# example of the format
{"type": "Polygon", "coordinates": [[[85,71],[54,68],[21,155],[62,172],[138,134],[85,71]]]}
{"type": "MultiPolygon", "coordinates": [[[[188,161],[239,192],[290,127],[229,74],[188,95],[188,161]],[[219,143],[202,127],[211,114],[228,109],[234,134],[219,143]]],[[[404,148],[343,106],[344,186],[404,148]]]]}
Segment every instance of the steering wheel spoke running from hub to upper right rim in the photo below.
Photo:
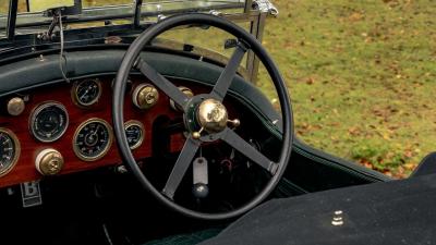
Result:
{"type": "Polygon", "coordinates": [[[222,71],[217,83],[215,84],[210,95],[220,102],[222,102],[223,98],[226,97],[226,94],[229,90],[234,76],[237,75],[237,71],[241,64],[242,58],[244,58],[247,50],[249,48],[244,42],[238,42],[237,49],[230,58],[229,63],[226,65],[226,69],[222,71]]]}

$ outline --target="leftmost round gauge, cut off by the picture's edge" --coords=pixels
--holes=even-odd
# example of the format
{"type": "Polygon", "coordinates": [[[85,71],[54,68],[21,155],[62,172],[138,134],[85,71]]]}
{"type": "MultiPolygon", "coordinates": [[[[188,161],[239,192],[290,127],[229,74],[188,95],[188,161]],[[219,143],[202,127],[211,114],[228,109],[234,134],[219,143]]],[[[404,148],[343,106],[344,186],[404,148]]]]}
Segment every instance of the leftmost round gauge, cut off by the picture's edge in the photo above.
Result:
{"type": "Polygon", "coordinates": [[[15,134],[7,128],[0,128],[0,176],[9,173],[20,156],[20,142],[15,134]]]}

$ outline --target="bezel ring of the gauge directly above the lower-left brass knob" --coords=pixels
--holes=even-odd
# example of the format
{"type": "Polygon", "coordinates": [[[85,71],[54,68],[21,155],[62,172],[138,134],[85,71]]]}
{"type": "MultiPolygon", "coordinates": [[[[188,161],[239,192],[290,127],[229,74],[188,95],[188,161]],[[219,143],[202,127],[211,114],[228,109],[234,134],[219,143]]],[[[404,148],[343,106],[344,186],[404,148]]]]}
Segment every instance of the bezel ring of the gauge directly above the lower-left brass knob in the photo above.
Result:
{"type": "Polygon", "coordinates": [[[39,103],[37,107],[35,107],[31,113],[29,121],[28,121],[28,128],[29,128],[32,135],[41,143],[52,143],[52,142],[58,140],[60,137],[62,137],[65,134],[69,126],[70,126],[70,115],[66,110],[66,107],[63,106],[61,102],[50,101],[50,100],[39,103]],[[62,110],[65,113],[66,117],[65,117],[65,126],[62,128],[61,133],[59,135],[57,135],[56,137],[47,139],[47,138],[43,138],[37,135],[37,133],[35,132],[34,123],[35,123],[37,115],[44,109],[49,108],[49,107],[58,107],[60,110],[62,110]]]}

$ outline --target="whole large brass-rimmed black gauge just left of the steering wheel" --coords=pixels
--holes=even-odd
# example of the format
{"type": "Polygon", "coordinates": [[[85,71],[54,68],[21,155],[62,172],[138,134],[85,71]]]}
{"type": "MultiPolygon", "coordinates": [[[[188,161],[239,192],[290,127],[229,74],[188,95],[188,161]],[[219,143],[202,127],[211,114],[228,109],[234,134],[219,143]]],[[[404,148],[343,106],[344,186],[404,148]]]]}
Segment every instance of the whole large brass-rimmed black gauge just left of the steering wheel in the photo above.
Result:
{"type": "Polygon", "coordinates": [[[112,131],[108,122],[101,119],[89,119],[75,131],[73,149],[84,161],[102,158],[112,144],[112,131]]]}

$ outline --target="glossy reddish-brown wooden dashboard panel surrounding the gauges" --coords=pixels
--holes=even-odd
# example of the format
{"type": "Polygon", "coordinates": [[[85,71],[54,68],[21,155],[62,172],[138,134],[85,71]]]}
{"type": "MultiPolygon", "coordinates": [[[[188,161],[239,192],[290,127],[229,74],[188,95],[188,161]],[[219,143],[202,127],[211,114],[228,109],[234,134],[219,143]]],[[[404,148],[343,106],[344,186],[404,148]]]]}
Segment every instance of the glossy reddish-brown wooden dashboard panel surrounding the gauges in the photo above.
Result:
{"type": "MultiPolygon", "coordinates": [[[[120,164],[121,159],[118,155],[114,140],[110,143],[109,149],[105,156],[95,161],[85,161],[77,157],[73,150],[74,135],[77,127],[89,119],[100,119],[112,124],[111,102],[112,102],[112,81],[113,76],[98,77],[101,84],[101,95],[98,101],[89,107],[77,106],[74,100],[74,84],[51,85],[41,88],[32,89],[28,94],[21,95],[27,99],[25,109],[20,115],[11,115],[8,110],[0,114],[0,127],[9,130],[16,135],[21,146],[21,154],[16,163],[2,176],[0,176],[0,187],[14,185],[28,181],[36,181],[44,175],[36,169],[35,160],[43,150],[55,149],[63,157],[63,168],[59,174],[73,173],[84,170],[96,169],[105,166],[120,164]],[[38,140],[31,132],[32,114],[39,105],[47,101],[55,101],[64,107],[69,115],[66,131],[60,138],[51,143],[38,140]]],[[[147,83],[145,77],[132,77],[128,85],[128,93],[124,101],[125,121],[137,120],[144,125],[144,140],[141,146],[133,150],[136,159],[152,156],[152,128],[155,120],[160,115],[169,119],[180,118],[182,114],[170,106],[169,98],[159,91],[159,99],[155,106],[149,109],[138,109],[132,101],[132,94],[136,86],[147,83]]],[[[75,81],[78,83],[80,81],[75,81]]],[[[191,88],[192,89],[192,88],[191,88]]],[[[195,89],[193,89],[195,90],[195,89]]],[[[2,107],[4,108],[3,101],[2,107]]],[[[112,131],[110,128],[110,131],[112,131]]],[[[184,139],[182,134],[171,140],[171,149],[179,150],[184,139]]]]}

